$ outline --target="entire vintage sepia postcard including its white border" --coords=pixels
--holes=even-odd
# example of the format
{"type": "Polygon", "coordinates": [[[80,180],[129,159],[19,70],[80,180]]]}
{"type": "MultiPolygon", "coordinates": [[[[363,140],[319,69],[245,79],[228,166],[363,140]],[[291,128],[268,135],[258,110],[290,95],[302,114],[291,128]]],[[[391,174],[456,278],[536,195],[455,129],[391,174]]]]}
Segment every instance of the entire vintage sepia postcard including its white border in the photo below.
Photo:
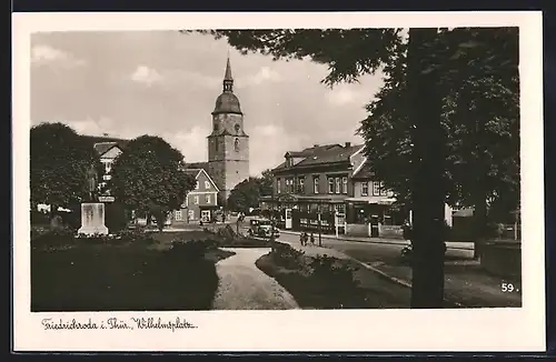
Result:
{"type": "Polygon", "coordinates": [[[540,20],[14,13],[13,349],[544,351],[540,20]]]}

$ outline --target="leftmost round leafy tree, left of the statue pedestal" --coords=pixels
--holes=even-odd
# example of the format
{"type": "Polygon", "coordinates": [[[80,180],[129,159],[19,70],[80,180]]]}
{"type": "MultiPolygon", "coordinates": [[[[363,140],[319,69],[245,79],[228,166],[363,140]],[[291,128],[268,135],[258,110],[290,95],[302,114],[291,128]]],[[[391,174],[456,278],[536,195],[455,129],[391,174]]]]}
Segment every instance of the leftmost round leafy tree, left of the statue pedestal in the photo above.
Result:
{"type": "MultiPolygon", "coordinates": [[[[93,144],[62,123],[41,123],[30,131],[31,205],[73,208],[89,200],[89,178],[100,164],[93,144]]],[[[93,192],[95,193],[95,192],[93,192]]]]}

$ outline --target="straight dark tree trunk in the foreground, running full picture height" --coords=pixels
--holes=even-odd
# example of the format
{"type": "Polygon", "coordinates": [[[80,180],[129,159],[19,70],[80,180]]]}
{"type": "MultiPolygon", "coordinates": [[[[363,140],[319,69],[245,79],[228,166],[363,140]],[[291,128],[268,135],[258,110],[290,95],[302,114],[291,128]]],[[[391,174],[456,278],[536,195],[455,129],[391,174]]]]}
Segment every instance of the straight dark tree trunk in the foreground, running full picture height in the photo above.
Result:
{"type": "Polygon", "coordinates": [[[446,135],[441,125],[438,71],[430,44],[437,29],[410,29],[409,117],[414,141],[411,308],[444,306],[444,205],[446,135]]]}

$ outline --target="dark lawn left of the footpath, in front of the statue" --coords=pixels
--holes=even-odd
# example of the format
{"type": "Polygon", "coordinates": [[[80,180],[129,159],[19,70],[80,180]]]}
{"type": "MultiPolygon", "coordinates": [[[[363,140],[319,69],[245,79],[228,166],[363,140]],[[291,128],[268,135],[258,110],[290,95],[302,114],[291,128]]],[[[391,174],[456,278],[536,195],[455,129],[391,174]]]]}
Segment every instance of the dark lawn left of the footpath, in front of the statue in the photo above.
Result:
{"type": "Polygon", "coordinates": [[[34,240],[31,311],[209,310],[218,288],[215,263],[234,253],[189,243],[198,233],[172,235],[182,248],[161,235],[34,240]]]}

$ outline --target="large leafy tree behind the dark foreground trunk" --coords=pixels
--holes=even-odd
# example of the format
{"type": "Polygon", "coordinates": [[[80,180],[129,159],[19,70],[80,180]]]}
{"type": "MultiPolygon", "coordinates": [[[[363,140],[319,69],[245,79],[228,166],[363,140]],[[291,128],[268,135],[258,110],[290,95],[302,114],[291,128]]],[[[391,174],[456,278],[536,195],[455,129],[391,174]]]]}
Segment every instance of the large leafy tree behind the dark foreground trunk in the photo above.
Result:
{"type": "MultiPolygon", "coordinates": [[[[444,30],[436,43],[437,66],[441,69],[443,125],[447,133],[446,201],[450,205],[475,207],[479,241],[487,233],[487,200],[499,212],[505,208],[506,213],[515,210],[518,202],[517,30],[444,30]]],[[[414,143],[407,60],[405,51],[399,53],[385,67],[385,86],[367,105],[369,115],[359,132],[376,174],[398,199],[410,203],[414,143]]]]}

